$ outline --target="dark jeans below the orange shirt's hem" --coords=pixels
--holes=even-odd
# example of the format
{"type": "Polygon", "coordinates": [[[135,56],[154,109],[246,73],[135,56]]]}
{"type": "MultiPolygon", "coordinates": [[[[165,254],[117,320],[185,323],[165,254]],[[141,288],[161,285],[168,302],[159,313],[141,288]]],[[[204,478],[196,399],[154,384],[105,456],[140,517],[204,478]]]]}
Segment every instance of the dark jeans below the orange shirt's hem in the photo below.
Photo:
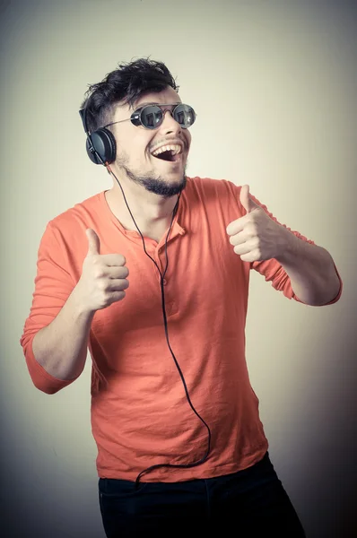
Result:
{"type": "Polygon", "coordinates": [[[100,478],[100,511],[108,538],[273,536],[304,538],[269,455],[217,478],[135,482],[100,478]]]}

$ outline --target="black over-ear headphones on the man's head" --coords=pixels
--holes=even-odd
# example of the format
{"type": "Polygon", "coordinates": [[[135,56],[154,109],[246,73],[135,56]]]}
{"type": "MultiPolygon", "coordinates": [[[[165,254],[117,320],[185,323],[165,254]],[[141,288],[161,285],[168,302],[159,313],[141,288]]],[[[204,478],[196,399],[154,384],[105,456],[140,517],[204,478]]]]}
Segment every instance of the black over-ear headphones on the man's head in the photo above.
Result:
{"type": "Polygon", "coordinates": [[[87,125],[87,106],[81,108],[79,114],[82,118],[83,127],[85,134],[87,134],[87,141],[85,143],[85,148],[88,153],[88,157],[91,159],[91,162],[94,164],[110,164],[115,161],[117,155],[117,143],[114,138],[114,134],[106,129],[105,127],[100,127],[96,131],[93,131],[91,134],[88,130],[87,125]]]}

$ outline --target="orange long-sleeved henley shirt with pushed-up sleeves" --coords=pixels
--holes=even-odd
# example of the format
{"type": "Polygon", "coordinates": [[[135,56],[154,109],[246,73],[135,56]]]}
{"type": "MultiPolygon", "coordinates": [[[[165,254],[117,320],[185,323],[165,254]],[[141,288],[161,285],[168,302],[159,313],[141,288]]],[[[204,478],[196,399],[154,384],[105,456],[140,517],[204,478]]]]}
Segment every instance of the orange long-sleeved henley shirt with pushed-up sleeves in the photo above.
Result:
{"type": "MultiPolygon", "coordinates": [[[[276,260],[250,264],[233,252],[226,227],[246,213],[239,190],[223,179],[187,178],[167,245],[164,291],[170,347],[191,402],[211,430],[211,451],[203,464],[155,469],[144,474],[143,482],[234,473],[255,464],[268,447],[245,357],[250,269],[288,299],[299,299],[276,260]]],[[[145,255],[139,233],[125,230],[111,213],[104,192],[48,222],[41,239],[21,339],[30,377],[48,394],[73,382],[52,377],[39,365],[32,340],[57,316],[80,278],[87,228],[100,237],[100,254],[122,254],[130,272],[125,299],[98,310],[91,324],[91,426],[98,474],[135,481],[154,464],[197,462],[205,456],[208,431],[187,402],[167,344],[161,276],[145,255]]],[[[161,273],[166,235],[159,244],[144,238],[161,273]]]]}

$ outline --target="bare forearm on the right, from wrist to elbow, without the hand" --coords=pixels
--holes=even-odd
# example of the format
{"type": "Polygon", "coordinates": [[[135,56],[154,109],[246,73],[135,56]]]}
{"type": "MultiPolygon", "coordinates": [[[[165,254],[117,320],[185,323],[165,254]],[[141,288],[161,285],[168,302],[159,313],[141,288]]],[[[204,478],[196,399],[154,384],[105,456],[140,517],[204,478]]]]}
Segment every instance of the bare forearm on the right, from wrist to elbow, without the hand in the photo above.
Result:
{"type": "Polygon", "coordinates": [[[304,303],[319,306],[335,299],[340,281],[327,250],[286,232],[283,252],[277,256],[292,281],[292,290],[304,303]]]}

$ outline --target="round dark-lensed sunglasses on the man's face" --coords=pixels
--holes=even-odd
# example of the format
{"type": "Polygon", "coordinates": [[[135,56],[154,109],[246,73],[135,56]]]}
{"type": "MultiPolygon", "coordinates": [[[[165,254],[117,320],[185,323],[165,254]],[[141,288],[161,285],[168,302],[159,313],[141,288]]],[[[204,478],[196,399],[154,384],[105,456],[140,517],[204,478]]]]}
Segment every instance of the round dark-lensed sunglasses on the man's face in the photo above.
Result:
{"type": "Polygon", "coordinates": [[[156,129],[161,126],[165,113],[170,110],[171,116],[183,128],[187,129],[192,126],[196,119],[196,112],[192,107],[179,103],[179,105],[145,105],[137,108],[131,117],[113,121],[104,127],[114,126],[117,123],[131,121],[134,126],[144,126],[145,129],[156,129]]]}

